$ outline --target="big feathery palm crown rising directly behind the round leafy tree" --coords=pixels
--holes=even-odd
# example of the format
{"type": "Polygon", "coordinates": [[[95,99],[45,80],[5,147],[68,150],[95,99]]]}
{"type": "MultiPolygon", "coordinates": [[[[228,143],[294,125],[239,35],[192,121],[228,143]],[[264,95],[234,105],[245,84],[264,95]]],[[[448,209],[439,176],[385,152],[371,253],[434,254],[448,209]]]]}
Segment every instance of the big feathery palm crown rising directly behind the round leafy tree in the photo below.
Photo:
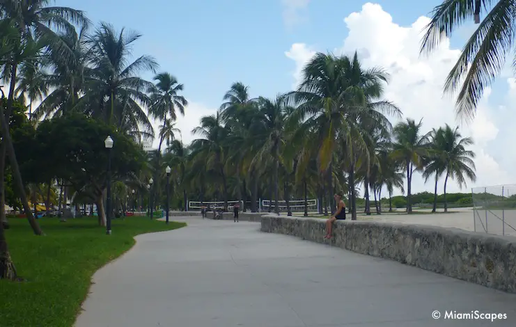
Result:
{"type": "Polygon", "coordinates": [[[139,129],[141,125],[146,131],[152,131],[153,127],[141,105],[151,104],[146,90],[154,86],[138,74],[143,71],[155,72],[158,65],[153,57],[147,55],[126,64],[132,44],[140,37],[138,33],[126,33],[124,29],[117,33],[110,24],[100,24],[88,38],[92,53],[91,67],[85,81],[85,95],[77,105],[80,104],[94,117],[104,118],[108,124],[127,122],[125,115],[129,113],[134,118],[133,129],[139,129]]]}

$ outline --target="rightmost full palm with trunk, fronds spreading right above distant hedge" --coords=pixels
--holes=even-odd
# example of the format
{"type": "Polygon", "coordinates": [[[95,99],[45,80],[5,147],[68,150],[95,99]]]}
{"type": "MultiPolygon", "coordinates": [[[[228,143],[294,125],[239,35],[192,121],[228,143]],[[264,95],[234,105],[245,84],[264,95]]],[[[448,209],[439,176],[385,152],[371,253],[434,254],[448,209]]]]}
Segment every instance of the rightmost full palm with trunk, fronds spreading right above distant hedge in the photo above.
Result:
{"type": "Polygon", "coordinates": [[[437,143],[443,145],[441,155],[445,163],[444,178],[444,212],[448,212],[448,203],[446,202],[446,185],[448,177],[455,180],[460,187],[466,185],[466,179],[472,182],[476,181],[475,174],[475,153],[466,150],[468,145],[473,144],[473,139],[469,137],[462,138],[458,131],[458,127],[452,129],[448,124],[441,129],[441,133],[437,134],[437,143]]]}

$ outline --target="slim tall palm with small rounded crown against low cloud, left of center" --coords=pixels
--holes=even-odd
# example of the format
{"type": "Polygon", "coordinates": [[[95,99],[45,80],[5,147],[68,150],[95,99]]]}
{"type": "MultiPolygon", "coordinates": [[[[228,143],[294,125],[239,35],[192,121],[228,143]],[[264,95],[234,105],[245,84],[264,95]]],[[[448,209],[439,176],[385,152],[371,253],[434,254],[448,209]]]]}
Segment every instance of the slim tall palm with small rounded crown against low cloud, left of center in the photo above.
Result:
{"type": "MultiPolygon", "coordinates": [[[[185,106],[188,102],[185,97],[179,95],[184,86],[168,72],[162,72],[154,77],[157,83],[150,87],[149,113],[155,118],[162,120],[163,127],[167,123],[175,122],[178,119],[176,110],[185,115],[185,106]]],[[[162,143],[169,134],[160,134],[158,151],[162,149],[162,143]]],[[[167,139],[168,140],[168,139],[167,139]]],[[[169,140],[168,140],[169,141],[169,140]]]]}

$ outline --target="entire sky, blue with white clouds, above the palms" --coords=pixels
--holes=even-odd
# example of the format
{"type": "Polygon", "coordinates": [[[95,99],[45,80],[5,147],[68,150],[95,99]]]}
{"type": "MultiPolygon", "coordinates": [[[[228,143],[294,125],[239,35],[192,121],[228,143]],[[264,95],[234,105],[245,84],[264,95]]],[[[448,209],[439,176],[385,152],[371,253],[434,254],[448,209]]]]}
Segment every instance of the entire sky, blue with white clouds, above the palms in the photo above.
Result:
{"type": "MultiPolygon", "coordinates": [[[[142,34],[134,57],[154,56],[159,72],[170,72],[185,84],[189,106],[177,127],[185,143],[203,115],[219,108],[235,81],[249,86],[251,97],[274,97],[295,88],[299,72],[317,51],[352,54],[358,51],[366,67],[384,67],[390,74],[386,99],[405,118],[423,119],[430,131],[445,123],[456,126],[454,102],[444,96],[446,75],[476,26],[466,24],[432,56],[419,56],[421,31],[441,1],[385,0],[57,0],[58,6],[86,11],[90,19],[116,29],[142,34]],[[122,5],[122,3],[124,3],[122,5]]],[[[153,79],[154,74],[143,77],[153,79]]],[[[516,152],[512,127],[516,118],[516,79],[508,67],[485,91],[474,122],[460,125],[474,138],[476,183],[462,191],[516,182],[516,152]]],[[[396,123],[398,119],[391,119],[396,123]]],[[[157,131],[157,122],[155,122],[157,131]]],[[[157,141],[155,141],[157,143],[157,141]]],[[[438,192],[443,191],[443,182],[438,192]]],[[[460,191],[454,181],[447,191],[460,191]]],[[[433,191],[414,173],[412,192],[433,191]]],[[[399,193],[399,192],[397,192],[399,193]]]]}

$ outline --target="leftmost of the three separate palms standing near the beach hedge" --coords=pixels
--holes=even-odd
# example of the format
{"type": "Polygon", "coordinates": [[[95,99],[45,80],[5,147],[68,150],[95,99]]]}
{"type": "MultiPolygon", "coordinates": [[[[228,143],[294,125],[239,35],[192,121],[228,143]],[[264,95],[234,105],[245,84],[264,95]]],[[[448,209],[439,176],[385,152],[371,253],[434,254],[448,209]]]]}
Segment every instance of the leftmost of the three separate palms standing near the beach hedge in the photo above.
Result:
{"type": "Polygon", "coordinates": [[[421,135],[422,120],[416,122],[407,118],[394,127],[393,152],[391,156],[402,163],[407,173],[407,213],[412,213],[412,174],[423,169],[423,159],[428,155],[430,133],[421,135]]]}

